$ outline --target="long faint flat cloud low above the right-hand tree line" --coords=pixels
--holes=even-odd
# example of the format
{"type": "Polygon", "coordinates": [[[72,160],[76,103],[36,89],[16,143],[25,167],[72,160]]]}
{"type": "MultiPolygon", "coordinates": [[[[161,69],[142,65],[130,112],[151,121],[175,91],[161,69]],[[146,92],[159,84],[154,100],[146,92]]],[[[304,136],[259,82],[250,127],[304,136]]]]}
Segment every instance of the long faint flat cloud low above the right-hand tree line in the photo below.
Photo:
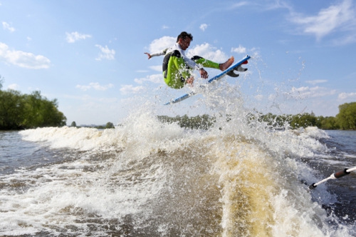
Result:
{"type": "Polygon", "coordinates": [[[322,96],[330,96],[336,94],[336,90],[329,90],[325,87],[315,86],[309,88],[308,86],[302,86],[300,88],[293,87],[292,90],[288,93],[284,93],[285,96],[288,98],[315,98],[315,97],[322,97],[322,96]]]}

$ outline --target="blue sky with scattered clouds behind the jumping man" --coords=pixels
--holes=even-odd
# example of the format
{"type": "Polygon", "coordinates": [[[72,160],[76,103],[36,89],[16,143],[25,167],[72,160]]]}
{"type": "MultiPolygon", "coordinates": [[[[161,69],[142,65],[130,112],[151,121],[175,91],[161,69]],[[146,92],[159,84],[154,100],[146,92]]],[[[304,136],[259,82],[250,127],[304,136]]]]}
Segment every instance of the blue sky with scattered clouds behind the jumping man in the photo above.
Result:
{"type": "MultiPolygon", "coordinates": [[[[246,106],[335,116],[337,106],[356,101],[355,13],[352,0],[0,0],[0,75],[3,89],[58,99],[68,124],[117,123],[135,103],[186,92],[167,88],[163,57],[147,60],[144,52],[187,31],[188,55],[253,56],[248,74],[226,79],[241,84],[246,106]]],[[[186,108],[197,99],[157,114],[193,115],[186,108]]]]}

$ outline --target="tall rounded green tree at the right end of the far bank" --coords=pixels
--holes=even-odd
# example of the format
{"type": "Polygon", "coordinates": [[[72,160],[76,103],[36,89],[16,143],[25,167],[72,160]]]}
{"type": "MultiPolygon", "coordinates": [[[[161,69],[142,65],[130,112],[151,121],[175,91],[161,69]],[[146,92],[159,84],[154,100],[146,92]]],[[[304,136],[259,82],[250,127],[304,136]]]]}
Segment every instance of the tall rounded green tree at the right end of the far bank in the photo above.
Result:
{"type": "Polygon", "coordinates": [[[356,130],[356,102],[341,104],[336,118],[342,130],[356,130]]]}

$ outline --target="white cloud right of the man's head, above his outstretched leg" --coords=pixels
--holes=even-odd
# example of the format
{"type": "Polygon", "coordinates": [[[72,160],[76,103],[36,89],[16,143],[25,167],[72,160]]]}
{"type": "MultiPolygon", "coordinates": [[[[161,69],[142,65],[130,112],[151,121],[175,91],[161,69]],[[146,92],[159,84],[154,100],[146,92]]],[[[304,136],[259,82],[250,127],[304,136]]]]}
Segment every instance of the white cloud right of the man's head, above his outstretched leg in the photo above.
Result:
{"type": "Polygon", "coordinates": [[[228,59],[228,56],[223,51],[216,49],[208,43],[197,45],[193,49],[189,49],[187,51],[187,56],[192,57],[194,55],[215,61],[216,63],[226,61],[228,59]]]}

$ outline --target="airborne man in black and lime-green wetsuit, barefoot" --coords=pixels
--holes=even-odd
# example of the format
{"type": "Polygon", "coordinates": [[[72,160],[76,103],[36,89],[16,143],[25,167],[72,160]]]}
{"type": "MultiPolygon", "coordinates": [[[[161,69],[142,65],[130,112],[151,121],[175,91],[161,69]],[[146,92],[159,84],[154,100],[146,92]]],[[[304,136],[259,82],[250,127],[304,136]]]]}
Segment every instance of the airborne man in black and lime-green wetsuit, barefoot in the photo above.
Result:
{"type": "Polygon", "coordinates": [[[177,43],[174,46],[154,54],[145,53],[148,59],[151,59],[153,56],[165,55],[162,64],[164,82],[173,89],[181,89],[185,84],[192,85],[194,77],[191,74],[194,69],[199,70],[199,74],[203,79],[207,79],[208,73],[204,70],[203,66],[224,71],[234,63],[234,56],[231,56],[223,64],[209,61],[201,56],[193,56],[192,59],[187,58],[184,51],[188,49],[192,40],[192,34],[183,31],[177,37],[177,43]]]}

